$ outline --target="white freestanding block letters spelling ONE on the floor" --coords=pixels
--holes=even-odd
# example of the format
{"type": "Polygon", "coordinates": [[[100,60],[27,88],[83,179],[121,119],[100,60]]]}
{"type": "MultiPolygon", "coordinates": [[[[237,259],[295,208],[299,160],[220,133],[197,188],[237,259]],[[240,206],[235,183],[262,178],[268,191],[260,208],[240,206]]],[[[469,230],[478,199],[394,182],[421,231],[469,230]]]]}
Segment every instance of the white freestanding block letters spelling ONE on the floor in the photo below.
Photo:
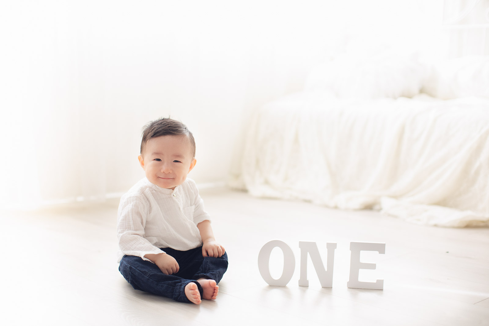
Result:
{"type": "MultiPolygon", "coordinates": [[[[307,255],[309,254],[321,286],[332,287],[334,249],[336,249],[336,243],[326,244],[326,248],[328,249],[327,269],[324,268],[316,242],[299,241],[299,248],[301,249],[301,275],[299,286],[309,286],[309,281],[307,279],[307,255]]],[[[358,281],[359,269],[376,269],[376,264],[360,261],[360,251],[362,250],[378,251],[379,254],[385,254],[385,243],[350,242],[350,251],[352,253],[350,256],[350,280],[348,281],[347,286],[358,289],[382,290],[384,288],[384,280],[377,280],[377,282],[358,281]]],[[[284,241],[268,241],[258,254],[258,269],[260,270],[262,278],[269,285],[286,286],[295,270],[295,257],[292,249],[290,249],[284,241]],[[282,276],[278,280],[271,277],[268,265],[270,254],[275,247],[279,247],[284,253],[284,269],[282,271],[282,276]]]]}

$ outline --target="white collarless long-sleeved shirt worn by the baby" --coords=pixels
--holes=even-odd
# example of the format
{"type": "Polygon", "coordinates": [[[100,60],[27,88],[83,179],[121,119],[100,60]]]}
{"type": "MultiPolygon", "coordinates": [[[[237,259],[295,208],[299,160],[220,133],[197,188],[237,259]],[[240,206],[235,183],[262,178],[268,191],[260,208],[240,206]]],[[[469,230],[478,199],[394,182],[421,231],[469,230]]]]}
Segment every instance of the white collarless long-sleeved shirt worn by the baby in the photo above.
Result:
{"type": "Polygon", "coordinates": [[[195,181],[187,178],[174,190],[158,187],[146,177],[121,197],[117,212],[117,262],[124,255],[160,254],[159,248],[190,250],[202,245],[197,224],[210,216],[195,181]]]}

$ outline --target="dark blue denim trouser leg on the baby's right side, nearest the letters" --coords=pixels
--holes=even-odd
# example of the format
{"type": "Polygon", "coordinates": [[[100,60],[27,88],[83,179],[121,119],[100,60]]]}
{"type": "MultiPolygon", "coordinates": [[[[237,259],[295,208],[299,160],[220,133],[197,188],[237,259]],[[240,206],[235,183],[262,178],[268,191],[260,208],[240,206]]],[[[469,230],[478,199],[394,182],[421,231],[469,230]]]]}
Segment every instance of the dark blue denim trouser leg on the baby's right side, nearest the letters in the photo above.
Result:
{"type": "Polygon", "coordinates": [[[181,253],[185,253],[186,269],[188,269],[185,277],[188,279],[198,280],[203,277],[219,283],[227,270],[227,253],[218,258],[202,257],[202,247],[181,253]],[[190,274],[188,274],[189,272],[190,274]],[[192,273],[193,276],[191,276],[192,273]]]}

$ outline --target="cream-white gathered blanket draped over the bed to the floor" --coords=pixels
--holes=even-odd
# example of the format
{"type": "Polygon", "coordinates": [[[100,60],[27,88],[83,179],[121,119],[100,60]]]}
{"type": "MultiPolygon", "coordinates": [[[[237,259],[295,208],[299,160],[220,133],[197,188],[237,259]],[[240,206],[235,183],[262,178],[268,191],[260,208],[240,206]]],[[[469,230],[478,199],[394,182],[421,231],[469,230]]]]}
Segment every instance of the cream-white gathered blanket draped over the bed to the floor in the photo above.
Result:
{"type": "Polygon", "coordinates": [[[254,196],[380,209],[429,225],[488,224],[488,137],[489,99],[301,92],[256,114],[242,177],[254,196]]]}

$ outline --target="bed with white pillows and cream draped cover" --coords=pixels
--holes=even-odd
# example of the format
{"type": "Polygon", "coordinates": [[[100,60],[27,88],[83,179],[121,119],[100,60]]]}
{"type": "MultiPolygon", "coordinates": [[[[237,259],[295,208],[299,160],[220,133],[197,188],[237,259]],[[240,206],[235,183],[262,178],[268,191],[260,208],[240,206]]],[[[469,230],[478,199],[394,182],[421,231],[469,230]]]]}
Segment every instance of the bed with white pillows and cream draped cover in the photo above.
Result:
{"type": "Polygon", "coordinates": [[[254,114],[240,179],[253,196],[486,226],[488,139],[488,57],[341,58],[254,114]]]}

